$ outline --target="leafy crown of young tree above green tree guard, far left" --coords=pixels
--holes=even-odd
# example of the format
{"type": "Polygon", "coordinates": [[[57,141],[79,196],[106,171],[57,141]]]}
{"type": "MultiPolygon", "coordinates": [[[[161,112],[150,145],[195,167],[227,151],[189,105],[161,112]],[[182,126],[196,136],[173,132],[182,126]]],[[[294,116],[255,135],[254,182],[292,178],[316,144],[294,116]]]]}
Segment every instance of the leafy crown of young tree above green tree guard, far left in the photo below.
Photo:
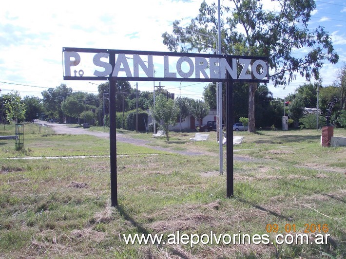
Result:
{"type": "Polygon", "coordinates": [[[18,91],[12,91],[8,94],[4,94],[4,107],[7,121],[11,122],[15,120],[16,123],[25,119],[25,104],[21,101],[21,97],[18,91]]]}

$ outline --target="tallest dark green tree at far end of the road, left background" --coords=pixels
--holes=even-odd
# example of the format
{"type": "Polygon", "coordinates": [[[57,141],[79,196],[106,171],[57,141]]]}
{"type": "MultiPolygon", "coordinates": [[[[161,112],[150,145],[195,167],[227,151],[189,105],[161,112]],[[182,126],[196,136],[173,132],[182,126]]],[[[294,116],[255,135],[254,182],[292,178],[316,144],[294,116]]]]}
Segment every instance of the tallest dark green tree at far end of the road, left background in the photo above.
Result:
{"type": "Polygon", "coordinates": [[[63,122],[61,104],[71,93],[72,88],[67,87],[65,84],[60,84],[56,88],[48,88],[48,90],[41,92],[46,114],[59,117],[59,121],[63,122]]]}

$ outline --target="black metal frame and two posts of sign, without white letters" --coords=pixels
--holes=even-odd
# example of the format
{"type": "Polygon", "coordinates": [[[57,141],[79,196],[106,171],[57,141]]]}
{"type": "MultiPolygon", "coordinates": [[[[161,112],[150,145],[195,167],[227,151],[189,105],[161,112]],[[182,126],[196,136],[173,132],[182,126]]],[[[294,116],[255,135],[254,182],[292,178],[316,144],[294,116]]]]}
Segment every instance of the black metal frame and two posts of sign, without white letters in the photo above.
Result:
{"type": "MultiPolygon", "coordinates": [[[[233,82],[248,82],[248,83],[268,83],[269,82],[269,59],[264,56],[231,56],[231,55],[213,55],[213,54],[195,54],[195,53],[177,53],[177,52],[155,52],[155,51],[131,51],[131,50],[111,50],[111,49],[93,49],[93,48],[62,48],[63,54],[63,79],[64,80],[85,80],[85,81],[109,81],[109,94],[110,94],[110,174],[111,174],[111,205],[117,206],[117,169],[116,169],[116,123],[115,123],[115,94],[116,94],[116,82],[120,81],[177,81],[177,82],[224,82],[226,83],[226,124],[228,125],[226,129],[226,134],[228,139],[233,139],[233,129],[230,127],[233,124],[233,82]],[[74,52],[74,53],[102,53],[107,54],[107,58],[109,58],[109,64],[112,66],[112,71],[109,76],[83,76],[83,73],[80,73],[71,76],[65,75],[64,70],[66,67],[71,67],[73,64],[73,60],[68,60],[69,63],[66,63],[64,60],[64,52],[74,52]],[[219,60],[225,59],[230,68],[234,67],[234,59],[245,61],[246,63],[251,65],[254,63],[252,61],[248,62],[247,60],[262,60],[266,64],[266,79],[258,79],[255,78],[253,71],[251,74],[247,74],[247,78],[232,78],[230,73],[226,73],[225,78],[191,78],[191,77],[155,77],[153,76],[141,77],[141,76],[113,76],[113,71],[115,69],[115,56],[116,55],[152,55],[152,56],[175,56],[175,57],[187,57],[185,60],[189,60],[188,58],[200,57],[200,58],[217,58],[219,60]],[[66,65],[67,64],[67,65],[66,65]],[[250,75],[250,76],[249,76],[250,75]],[[251,77],[251,78],[249,78],[251,77]]],[[[75,55],[77,56],[77,55],[75,55]]],[[[145,61],[144,61],[145,62],[145,61]]],[[[77,63],[77,62],[75,62],[77,63]]],[[[94,63],[95,64],[95,63],[94,63]]],[[[220,62],[221,64],[221,62],[220,62]]],[[[236,63],[237,66],[239,63],[236,63]]],[[[239,64],[240,65],[240,64],[239,64]]],[[[70,69],[69,67],[69,69],[70,69]]],[[[246,65],[242,68],[244,68],[246,65]]],[[[149,64],[148,64],[149,68],[149,64]]],[[[263,67],[263,71],[265,68],[263,67]]],[[[248,67],[245,68],[246,70],[248,67]]],[[[256,68],[257,69],[257,66],[256,68]]],[[[154,66],[153,66],[154,70],[154,66]]],[[[221,69],[220,69],[221,70],[221,69]]],[[[252,69],[253,70],[253,69],[252,69]]],[[[238,71],[236,69],[236,71],[238,71]]],[[[154,72],[154,71],[153,71],[154,72]]],[[[263,72],[264,73],[264,72],[263,72]]],[[[68,74],[71,74],[69,71],[68,74]]],[[[238,74],[238,73],[237,73],[238,74]]],[[[236,75],[237,76],[237,75],[236,75]]],[[[233,144],[231,141],[227,141],[226,144],[226,188],[227,188],[227,198],[233,197],[233,144]]]]}

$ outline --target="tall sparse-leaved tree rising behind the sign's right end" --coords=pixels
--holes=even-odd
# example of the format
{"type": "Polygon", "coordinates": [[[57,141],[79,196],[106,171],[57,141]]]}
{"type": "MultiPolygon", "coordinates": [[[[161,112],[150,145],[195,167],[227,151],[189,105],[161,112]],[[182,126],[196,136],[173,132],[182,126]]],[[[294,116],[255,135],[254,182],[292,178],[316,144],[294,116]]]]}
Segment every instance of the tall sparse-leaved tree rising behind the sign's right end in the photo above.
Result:
{"type": "MultiPolygon", "coordinates": [[[[296,74],[306,80],[319,79],[319,71],[327,60],[335,64],[339,56],[334,52],[328,33],[323,27],[308,29],[308,21],[316,9],[314,0],[272,0],[277,8],[265,9],[262,0],[230,0],[225,6],[221,21],[223,54],[269,56],[269,73],[275,86],[286,86],[296,74]],[[305,48],[305,56],[295,56],[297,49],[305,48]]],[[[173,29],[173,35],[162,35],[171,51],[189,52],[215,49],[217,35],[217,6],[202,2],[199,15],[192,19],[188,29],[173,29]],[[184,45],[182,45],[184,44],[184,45]]],[[[178,20],[173,26],[179,26],[178,20]]],[[[176,27],[175,27],[176,28],[176,27]]],[[[253,76],[253,75],[252,75],[253,76]]],[[[255,131],[255,91],[257,83],[249,84],[249,131],[255,131]]]]}

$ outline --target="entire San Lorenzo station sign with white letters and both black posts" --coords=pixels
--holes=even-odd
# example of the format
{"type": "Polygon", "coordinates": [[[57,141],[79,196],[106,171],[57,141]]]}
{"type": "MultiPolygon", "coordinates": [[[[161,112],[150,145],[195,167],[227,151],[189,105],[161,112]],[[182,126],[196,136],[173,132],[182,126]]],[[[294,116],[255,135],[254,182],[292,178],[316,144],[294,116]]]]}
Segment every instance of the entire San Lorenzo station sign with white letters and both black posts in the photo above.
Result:
{"type": "MultiPolygon", "coordinates": [[[[233,82],[268,83],[268,57],[62,48],[64,80],[107,80],[110,96],[111,205],[117,201],[116,81],[225,82],[226,124],[233,123],[233,82]]],[[[233,138],[227,127],[227,138],[233,138]]],[[[229,145],[229,143],[231,143],[229,145]]],[[[233,196],[233,145],[226,147],[227,197],[233,196]]]]}

